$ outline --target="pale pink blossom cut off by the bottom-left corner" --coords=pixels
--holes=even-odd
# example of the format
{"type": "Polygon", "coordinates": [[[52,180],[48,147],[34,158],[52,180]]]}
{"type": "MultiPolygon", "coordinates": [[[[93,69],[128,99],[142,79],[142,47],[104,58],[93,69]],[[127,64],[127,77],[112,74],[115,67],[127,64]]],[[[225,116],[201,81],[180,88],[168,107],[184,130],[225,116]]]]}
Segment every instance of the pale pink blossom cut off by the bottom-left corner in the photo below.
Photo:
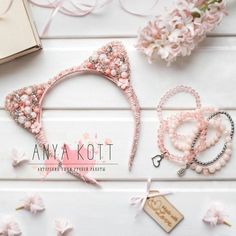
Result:
{"type": "Polygon", "coordinates": [[[0,235],[18,236],[21,235],[20,226],[12,216],[6,216],[0,226],[0,235]]]}

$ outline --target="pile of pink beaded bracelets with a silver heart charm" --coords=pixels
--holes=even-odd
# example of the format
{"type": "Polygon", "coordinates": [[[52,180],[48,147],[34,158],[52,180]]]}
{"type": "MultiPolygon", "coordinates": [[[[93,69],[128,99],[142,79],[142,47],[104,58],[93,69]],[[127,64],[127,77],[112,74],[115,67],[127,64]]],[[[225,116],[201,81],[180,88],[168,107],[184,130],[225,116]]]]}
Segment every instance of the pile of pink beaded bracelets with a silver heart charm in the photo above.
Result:
{"type": "Polygon", "coordinates": [[[195,170],[197,173],[208,175],[213,174],[216,170],[220,170],[230,159],[232,154],[232,138],[234,134],[234,122],[231,116],[225,111],[218,111],[216,108],[201,108],[200,96],[190,87],[178,86],[169,90],[162,98],[157,106],[157,113],[160,119],[158,129],[157,143],[162,154],[158,160],[152,159],[153,165],[159,167],[160,161],[165,158],[177,164],[184,165],[177,173],[183,176],[187,169],[195,170]],[[196,100],[196,109],[194,111],[182,111],[175,115],[163,118],[162,110],[165,102],[177,93],[185,92],[191,94],[196,100]],[[222,124],[221,116],[225,115],[230,124],[231,131],[225,131],[225,126],[222,124]],[[207,117],[208,116],[208,117],[207,117]],[[197,127],[189,135],[182,135],[177,132],[177,129],[186,122],[195,121],[197,127]],[[207,139],[207,134],[210,127],[216,130],[215,135],[207,139]],[[165,136],[169,135],[172,145],[179,151],[183,152],[182,156],[171,154],[165,146],[165,136]],[[211,161],[203,162],[199,160],[199,154],[206,149],[214,146],[219,142],[221,137],[224,137],[225,143],[222,151],[211,161]],[[154,162],[155,161],[155,162],[154,162]],[[158,165],[156,162],[158,161],[158,165]]]}

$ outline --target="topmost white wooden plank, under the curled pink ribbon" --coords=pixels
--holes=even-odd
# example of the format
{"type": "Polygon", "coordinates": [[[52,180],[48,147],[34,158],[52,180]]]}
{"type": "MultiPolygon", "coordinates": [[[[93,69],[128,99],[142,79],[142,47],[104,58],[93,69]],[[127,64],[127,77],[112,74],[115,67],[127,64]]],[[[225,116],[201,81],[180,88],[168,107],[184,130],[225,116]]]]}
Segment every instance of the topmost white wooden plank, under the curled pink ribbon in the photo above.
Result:
{"type": "MultiPolygon", "coordinates": [[[[139,7],[138,9],[147,9],[148,2],[153,2],[153,0],[135,2],[135,5],[138,5],[135,7],[139,7]]],[[[171,9],[173,3],[174,0],[159,0],[157,6],[153,8],[152,14],[165,14],[165,8],[171,9]]],[[[213,35],[232,35],[236,33],[236,26],[233,24],[236,20],[235,2],[229,0],[227,6],[229,15],[223,19],[221,25],[212,33],[213,35]]],[[[31,8],[38,31],[41,33],[50,17],[51,11],[35,6],[31,8]]],[[[110,5],[96,10],[86,17],[68,17],[57,14],[52,21],[46,37],[136,37],[137,31],[149,19],[152,19],[151,15],[149,17],[139,17],[128,14],[121,9],[118,0],[114,0],[110,5]]]]}

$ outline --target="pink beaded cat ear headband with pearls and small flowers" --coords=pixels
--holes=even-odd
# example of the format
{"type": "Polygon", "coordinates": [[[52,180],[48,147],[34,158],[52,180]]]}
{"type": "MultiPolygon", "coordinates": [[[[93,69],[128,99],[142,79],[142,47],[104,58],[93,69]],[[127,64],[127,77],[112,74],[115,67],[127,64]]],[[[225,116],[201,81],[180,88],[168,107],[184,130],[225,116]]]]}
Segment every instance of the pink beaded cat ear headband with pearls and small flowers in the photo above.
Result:
{"type": "Polygon", "coordinates": [[[47,83],[14,91],[6,97],[6,110],[9,111],[16,123],[34,135],[41,147],[47,145],[48,141],[41,120],[42,103],[45,95],[58,82],[67,79],[67,76],[86,72],[103,75],[115,83],[129,101],[135,118],[134,139],[129,158],[129,169],[131,170],[140,133],[140,106],[130,83],[130,65],[127,53],[120,42],[108,43],[80,66],[74,66],[60,72],[47,83]]]}

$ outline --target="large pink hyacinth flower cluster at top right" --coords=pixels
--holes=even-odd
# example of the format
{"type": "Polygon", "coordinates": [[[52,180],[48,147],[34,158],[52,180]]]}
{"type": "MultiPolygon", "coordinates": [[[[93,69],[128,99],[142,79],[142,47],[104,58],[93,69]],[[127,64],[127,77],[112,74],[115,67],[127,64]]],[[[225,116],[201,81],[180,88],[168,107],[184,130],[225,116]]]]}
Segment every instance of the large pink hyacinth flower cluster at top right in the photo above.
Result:
{"type": "Polygon", "coordinates": [[[174,10],[140,30],[136,47],[150,63],[161,58],[170,65],[190,55],[224,15],[225,0],[177,0],[174,10]]]}

